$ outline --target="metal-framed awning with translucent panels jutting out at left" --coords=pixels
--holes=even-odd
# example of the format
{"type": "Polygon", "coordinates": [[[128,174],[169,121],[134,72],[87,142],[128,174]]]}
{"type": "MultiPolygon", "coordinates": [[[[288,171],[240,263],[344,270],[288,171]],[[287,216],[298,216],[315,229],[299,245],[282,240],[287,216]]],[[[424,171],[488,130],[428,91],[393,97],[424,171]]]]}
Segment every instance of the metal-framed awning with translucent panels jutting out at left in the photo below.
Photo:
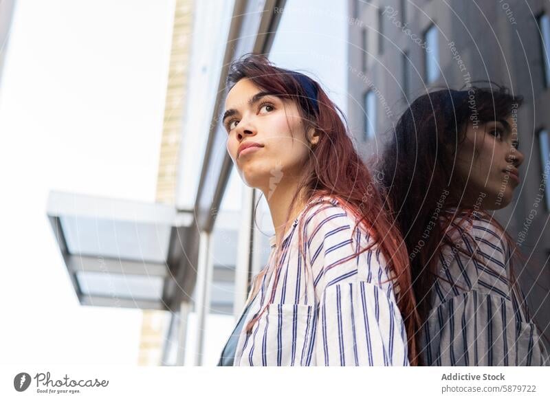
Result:
{"type": "Polygon", "coordinates": [[[80,304],[169,310],[169,282],[195,264],[180,263],[192,212],[172,205],[50,192],[47,216],[80,304]]]}

